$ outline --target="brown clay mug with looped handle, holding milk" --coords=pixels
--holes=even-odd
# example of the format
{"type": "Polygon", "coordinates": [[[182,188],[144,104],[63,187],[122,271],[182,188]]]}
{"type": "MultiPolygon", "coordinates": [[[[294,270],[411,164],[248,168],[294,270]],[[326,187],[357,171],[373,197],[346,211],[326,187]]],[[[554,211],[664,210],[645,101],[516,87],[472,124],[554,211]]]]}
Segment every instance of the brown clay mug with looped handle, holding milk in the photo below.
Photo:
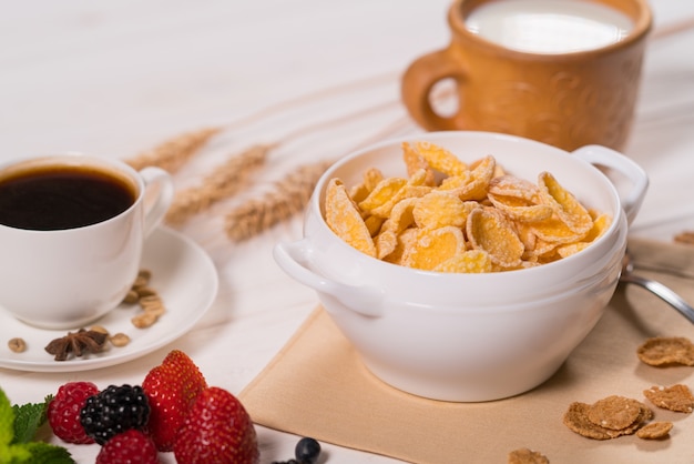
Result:
{"type": "MultiPolygon", "coordinates": [[[[468,29],[476,9],[502,1],[517,0],[453,1],[450,44],[417,59],[402,77],[410,115],[427,130],[511,133],[568,151],[593,143],[622,150],[652,26],[646,0],[585,1],[625,17],[631,30],[595,48],[552,52],[518,50],[468,29]],[[431,101],[435,85],[446,80],[458,93],[452,114],[439,114],[431,101]]],[[[568,37],[558,32],[558,39],[568,37]]]]}

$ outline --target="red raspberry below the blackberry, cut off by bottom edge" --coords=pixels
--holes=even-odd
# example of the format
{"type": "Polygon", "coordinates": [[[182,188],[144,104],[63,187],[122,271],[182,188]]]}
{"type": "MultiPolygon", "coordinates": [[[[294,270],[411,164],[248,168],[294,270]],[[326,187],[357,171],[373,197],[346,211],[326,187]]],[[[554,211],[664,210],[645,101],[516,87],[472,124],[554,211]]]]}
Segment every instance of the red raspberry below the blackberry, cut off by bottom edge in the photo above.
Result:
{"type": "Polygon", "coordinates": [[[144,433],[130,428],[109,440],[96,456],[96,464],[159,464],[154,442],[144,433]]]}

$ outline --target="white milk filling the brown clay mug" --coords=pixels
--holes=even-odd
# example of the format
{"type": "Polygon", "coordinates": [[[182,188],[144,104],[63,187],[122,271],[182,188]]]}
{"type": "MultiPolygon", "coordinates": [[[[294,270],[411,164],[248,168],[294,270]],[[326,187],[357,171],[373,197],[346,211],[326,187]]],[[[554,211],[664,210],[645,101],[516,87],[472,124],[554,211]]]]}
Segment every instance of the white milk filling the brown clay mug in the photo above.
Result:
{"type": "Polygon", "coordinates": [[[512,50],[572,53],[623,40],[633,22],[616,9],[583,0],[497,0],[472,10],[466,28],[512,50]]]}

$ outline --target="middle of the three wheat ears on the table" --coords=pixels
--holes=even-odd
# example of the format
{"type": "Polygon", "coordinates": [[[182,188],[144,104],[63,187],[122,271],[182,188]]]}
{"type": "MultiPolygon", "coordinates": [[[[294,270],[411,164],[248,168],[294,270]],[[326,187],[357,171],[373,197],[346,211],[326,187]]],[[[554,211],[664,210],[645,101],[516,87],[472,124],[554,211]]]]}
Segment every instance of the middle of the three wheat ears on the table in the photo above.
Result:
{"type": "Polygon", "coordinates": [[[166,213],[166,222],[182,224],[214,203],[238,193],[249,183],[251,174],[265,164],[273,147],[253,145],[216,167],[198,185],[177,192],[166,213]]]}

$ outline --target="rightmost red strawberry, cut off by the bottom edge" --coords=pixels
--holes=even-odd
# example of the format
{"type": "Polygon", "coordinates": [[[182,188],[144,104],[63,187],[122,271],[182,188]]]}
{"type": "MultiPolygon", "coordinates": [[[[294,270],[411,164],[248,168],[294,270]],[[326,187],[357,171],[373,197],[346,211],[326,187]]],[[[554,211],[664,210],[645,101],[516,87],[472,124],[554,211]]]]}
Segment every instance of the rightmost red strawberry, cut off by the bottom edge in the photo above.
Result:
{"type": "Polygon", "coordinates": [[[256,464],[255,428],[243,404],[212,386],[200,394],[174,443],[178,464],[256,464]]]}

